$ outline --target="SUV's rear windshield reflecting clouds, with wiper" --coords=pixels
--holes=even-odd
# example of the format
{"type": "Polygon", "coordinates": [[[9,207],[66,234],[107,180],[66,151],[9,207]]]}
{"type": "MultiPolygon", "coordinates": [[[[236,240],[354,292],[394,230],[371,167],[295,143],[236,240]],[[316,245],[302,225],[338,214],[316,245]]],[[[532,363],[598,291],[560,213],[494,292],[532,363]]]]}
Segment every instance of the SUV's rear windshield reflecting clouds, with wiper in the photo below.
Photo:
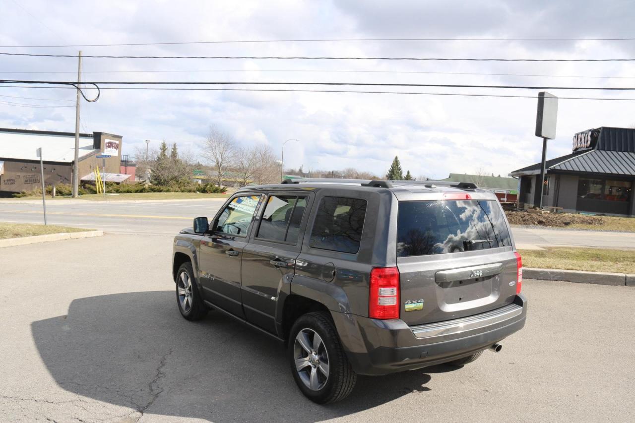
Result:
{"type": "Polygon", "coordinates": [[[509,245],[509,230],[497,200],[399,203],[398,257],[509,245]]]}

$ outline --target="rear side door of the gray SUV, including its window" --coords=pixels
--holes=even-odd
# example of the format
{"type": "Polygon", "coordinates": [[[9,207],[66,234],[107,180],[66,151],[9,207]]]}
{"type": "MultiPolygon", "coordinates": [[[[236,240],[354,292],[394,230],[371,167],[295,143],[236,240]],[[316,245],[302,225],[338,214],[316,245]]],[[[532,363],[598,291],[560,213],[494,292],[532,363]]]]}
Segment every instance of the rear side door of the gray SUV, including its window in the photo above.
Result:
{"type": "Polygon", "coordinates": [[[310,206],[311,194],[269,194],[244,247],[241,290],[245,318],[265,330],[276,331],[277,300],[281,287],[295,273],[310,206]]]}

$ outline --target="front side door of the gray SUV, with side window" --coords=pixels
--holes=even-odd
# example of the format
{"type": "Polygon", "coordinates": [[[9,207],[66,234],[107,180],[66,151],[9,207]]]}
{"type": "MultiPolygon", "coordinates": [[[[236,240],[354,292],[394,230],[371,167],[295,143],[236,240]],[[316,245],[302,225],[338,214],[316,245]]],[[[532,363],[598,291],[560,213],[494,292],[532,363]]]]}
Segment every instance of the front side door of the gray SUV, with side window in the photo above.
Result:
{"type": "Polygon", "coordinates": [[[258,194],[232,198],[204,234],[199,250],[199,281],[205,299],[242,318],[241,260],[260,199],[258,194]]]}

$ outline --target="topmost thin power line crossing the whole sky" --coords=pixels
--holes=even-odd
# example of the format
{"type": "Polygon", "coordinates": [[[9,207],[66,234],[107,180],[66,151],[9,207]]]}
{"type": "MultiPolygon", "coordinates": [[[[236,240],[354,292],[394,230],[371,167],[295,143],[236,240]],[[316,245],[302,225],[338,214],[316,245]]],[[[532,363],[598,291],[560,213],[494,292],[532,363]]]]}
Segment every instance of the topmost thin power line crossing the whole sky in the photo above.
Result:
{"type": "Polygon", "coordinates": [[[0,48],[63,48],[63,47],[126,47],[126,46],[166,46],[184,44],[238,44],[238,43],[316,43],[340,41],[633,41],[635,38],[314,38],[314,39],[245,39],[229,41],[167,41],[160,43],[119,43],[119,44],[65,44],[41,46],[0,46],[0,48]]]}

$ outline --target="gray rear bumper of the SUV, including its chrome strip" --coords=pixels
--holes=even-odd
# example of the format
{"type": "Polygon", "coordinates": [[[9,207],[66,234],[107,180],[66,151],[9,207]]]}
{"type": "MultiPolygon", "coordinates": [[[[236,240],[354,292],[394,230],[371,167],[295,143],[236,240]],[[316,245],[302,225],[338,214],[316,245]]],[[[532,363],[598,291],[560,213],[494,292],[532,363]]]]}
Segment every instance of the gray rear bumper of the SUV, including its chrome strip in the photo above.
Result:
{"type": "Polygon", "coordinates": [[[385,375],[446,363],[486,349],[525,326],[527,300],[519,294],[512,305],[502,309],[415,327],[399,319],[336,314],[340,313],[333,313],[333,318],[354,370],[385,375]]]}

